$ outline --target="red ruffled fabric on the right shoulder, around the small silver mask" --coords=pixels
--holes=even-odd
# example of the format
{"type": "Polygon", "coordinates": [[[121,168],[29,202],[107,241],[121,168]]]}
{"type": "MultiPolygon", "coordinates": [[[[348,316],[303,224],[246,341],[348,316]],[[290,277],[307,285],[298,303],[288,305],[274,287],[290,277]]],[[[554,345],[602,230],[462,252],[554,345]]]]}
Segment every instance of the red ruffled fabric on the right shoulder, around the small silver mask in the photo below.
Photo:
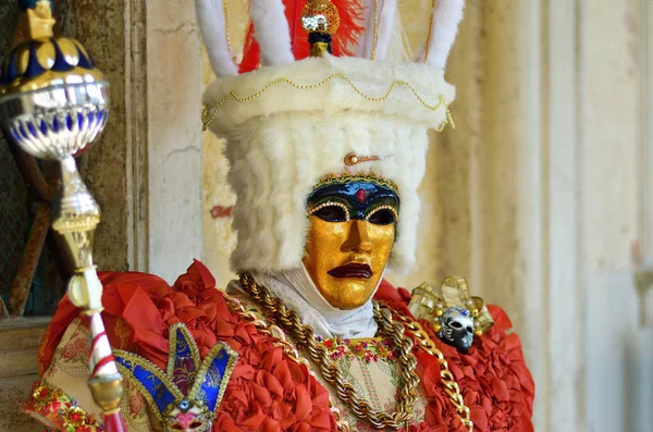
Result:
{"type": "MultiPolygon", "coordinates": [[[[383,281],[374,297],[411,317],[407,307],[410,294],[406,289],[394,288],[383,281]]],[[[501,308],[490,305],[488,309],[494,318],[494,325],[481,337],[475,338],[466,355],[441,343],[426,321],[421,324],[444,354],[471,411],[475,431],[532,432],[535,385],[523,360],[521,342],[516,334],[506,333],[513,324],[501,308]]],[[[417,359],[418,372],[429,397],[426,422],[417,430],[467,431],[444,392],[438,359],[423,351],[418,351],[417,359]]]]}

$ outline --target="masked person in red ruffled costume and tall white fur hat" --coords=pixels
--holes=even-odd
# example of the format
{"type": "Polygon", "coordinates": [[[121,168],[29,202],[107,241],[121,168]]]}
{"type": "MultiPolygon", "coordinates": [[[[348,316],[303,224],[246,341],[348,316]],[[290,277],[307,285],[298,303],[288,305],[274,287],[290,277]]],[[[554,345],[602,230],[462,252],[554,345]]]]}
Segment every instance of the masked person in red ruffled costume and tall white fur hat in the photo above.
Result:
{"type": "MultiPolygon", "coordinates": [[[[236,66],[222,1],[197,0],[219,77],[202,122],[227,143],[241,276],[222,292],[198,261],[173,286],[100,274],[128,430],[532,431],[533,381],[506,314],[461,277],[412,295],[382,279],[415,262],[429,131],[453,125],[444,65],[464,2],[436,2],[405,64],[384,61],[396,2],[367,3],[251,0],[236,66]]],[[[24,404],[50,428],[102,429],[88,334],[64,298],[24,404]]]]}

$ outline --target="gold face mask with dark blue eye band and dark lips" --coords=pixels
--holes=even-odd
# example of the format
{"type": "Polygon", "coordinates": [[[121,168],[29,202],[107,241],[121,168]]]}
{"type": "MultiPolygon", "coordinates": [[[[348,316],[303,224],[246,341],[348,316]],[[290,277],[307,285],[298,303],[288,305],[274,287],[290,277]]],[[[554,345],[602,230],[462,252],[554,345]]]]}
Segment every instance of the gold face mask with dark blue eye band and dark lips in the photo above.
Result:
{"type": "Polygon", "coordinates": [[[355,309],[370,299],[395,240],[398,207],[396,190],[373,180],[313,190],[304,266],[331,306],[355,309]]]}

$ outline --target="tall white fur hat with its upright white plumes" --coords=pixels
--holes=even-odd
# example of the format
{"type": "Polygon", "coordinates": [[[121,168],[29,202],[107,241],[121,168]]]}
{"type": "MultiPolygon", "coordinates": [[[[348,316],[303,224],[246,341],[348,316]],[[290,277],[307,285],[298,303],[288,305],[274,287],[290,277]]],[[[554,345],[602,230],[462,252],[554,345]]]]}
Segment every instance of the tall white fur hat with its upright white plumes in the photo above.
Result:
{"type": "MultiPolygon", "coordinates": [[[[447,25],[430,32],[430,55],[420,63],[397,64],[329,54],[288,61],[294,58],[282,1],[252,0],[261,52],[276,53],[261,55],[269,65],[242,75],[234,74],[224,35],[215,28],[220,21],[207,20],[208,11],[221,16],[217,3],[221,1],[197,0],[205,42],[220,77],[204,95],[202,121],[226,138],[229,182],[237,198],[233,269],[296,268],[304,256],[308,196],[323,176],[349,172],[397,185],[402,205],[389,266],[408,270],[415,262],[417,187],[424,174],[428,129],[451,121],[447,106],[455,89],[444,81],[443,67],[464,1],[440,0],[432,22],[447,25]],[[276,18],[285,29],[279,25],[279,35],[261,35],[261,9],[266,23],[276,18]]],[[[392,1],[384,3],[392,9],[392,1]]],[[[384,28],[378,30],[379,40],[385,40],[384,28]]],[[[365,38],[359,40],[362,47],[365,38]]]]}

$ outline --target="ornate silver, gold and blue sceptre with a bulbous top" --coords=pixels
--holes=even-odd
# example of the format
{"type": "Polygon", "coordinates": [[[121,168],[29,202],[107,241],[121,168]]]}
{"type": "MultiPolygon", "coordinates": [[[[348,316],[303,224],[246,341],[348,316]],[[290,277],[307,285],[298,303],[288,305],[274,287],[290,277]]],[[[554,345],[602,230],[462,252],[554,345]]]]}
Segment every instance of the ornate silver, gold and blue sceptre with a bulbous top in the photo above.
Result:
{"type": "Polygon", "coordinates": [[[100,209],[74,159],[107,124],[109,83],[78,41],[53,36],[50,0],[19,0],[19,5],[27,41],[10,53],[1,69],[0,124],[24,151],[61,164],[52,227],[65,238],[75,263],[67,295],[89,320],[88,385],[104,414],[104,430],[125,431],[120,415],[122,375],[100,317],[102,284],[93,262],[100,209]]]}

